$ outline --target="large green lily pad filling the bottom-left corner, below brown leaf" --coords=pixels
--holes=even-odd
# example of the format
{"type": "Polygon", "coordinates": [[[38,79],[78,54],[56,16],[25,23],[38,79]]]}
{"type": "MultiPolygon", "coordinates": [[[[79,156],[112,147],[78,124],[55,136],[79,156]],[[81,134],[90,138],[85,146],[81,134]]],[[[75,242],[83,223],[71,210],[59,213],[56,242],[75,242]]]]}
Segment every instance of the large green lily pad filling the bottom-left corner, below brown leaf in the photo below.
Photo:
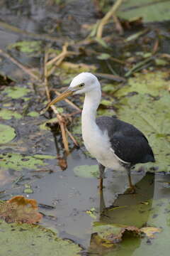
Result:
{"type": "Polygon", "coordinates": [[[38,225],[7,224],[0,220],[0,247],[4,256],[76,256],[81,248],[71,240],[38,225]]]}

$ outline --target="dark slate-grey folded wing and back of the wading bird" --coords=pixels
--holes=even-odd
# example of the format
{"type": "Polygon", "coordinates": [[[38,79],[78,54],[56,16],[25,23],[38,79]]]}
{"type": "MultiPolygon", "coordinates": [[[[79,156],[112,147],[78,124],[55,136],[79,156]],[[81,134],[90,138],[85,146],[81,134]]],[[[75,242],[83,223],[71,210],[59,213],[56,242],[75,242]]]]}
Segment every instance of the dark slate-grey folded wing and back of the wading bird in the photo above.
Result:
{"type": "Polygon", "coordinates": [[[111,147],[123,161],[131,164],[155,161],[147,138],[132,124],[115,117],[98,117],[96,124],[102,131],[108,131],[111,147]]]}

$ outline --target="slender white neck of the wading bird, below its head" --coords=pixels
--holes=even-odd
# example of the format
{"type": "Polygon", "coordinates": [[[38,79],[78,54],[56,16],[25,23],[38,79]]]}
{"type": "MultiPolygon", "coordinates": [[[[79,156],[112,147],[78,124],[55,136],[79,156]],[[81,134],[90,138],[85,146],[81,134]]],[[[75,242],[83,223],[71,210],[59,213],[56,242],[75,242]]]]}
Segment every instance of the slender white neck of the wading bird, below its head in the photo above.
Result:
{"type": "Polygon", "coordinates": [[[97,129],[96,110],[101,101],[101,88],[86,92],[84,99],[84,107],[81,114],[81,127],[83,138],[87,131],[97,129]]]}

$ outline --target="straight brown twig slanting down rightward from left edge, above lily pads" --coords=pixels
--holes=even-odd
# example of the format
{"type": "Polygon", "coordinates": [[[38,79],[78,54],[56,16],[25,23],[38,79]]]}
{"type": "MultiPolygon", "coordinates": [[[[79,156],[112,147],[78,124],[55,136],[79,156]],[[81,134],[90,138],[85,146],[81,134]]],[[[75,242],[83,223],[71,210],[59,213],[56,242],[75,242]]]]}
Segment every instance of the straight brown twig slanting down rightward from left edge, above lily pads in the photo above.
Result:
{"type": "Polygon", "coordinates": [[[11,60],[12,63],[16,64],[18,68],[21,68],[21,70],[23,70],[27,75],[30,75],[30,77],[33,78],[34,80],[40,80],[38,75],[35,75],[33,72],[30,71],[29,68],[21,64],[18,60],[16,60],[11,55],[6,53],[4,50],[0,49],[0,55],[4,56],[5,58],[8,58],[8,60],[11,60]]]}

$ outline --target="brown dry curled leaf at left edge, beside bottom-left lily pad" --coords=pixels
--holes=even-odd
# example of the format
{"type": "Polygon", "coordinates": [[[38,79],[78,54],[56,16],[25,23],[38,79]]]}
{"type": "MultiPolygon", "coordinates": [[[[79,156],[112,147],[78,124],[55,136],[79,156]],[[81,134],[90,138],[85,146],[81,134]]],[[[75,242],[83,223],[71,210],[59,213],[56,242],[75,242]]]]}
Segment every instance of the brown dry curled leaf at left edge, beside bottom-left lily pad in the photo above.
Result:
{"type": "Polygon", "coordinates": [[[0,218],[7,223],[37,223],[42,215],[38,213],[38,204],[35,199],[24,196],[14,196],[0,205],[0,218]]]}

